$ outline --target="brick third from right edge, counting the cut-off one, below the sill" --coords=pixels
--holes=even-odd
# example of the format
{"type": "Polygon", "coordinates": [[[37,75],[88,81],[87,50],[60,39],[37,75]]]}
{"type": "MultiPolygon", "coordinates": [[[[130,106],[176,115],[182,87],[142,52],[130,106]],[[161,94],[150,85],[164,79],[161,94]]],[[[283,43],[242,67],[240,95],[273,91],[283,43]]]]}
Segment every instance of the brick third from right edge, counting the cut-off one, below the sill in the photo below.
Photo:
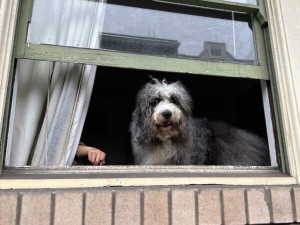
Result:
{"type": "Polygon", "coordinates": [[[247,189],[247,202],[250,224],[270,223],[270,212],[264,188],[247,189]]]}

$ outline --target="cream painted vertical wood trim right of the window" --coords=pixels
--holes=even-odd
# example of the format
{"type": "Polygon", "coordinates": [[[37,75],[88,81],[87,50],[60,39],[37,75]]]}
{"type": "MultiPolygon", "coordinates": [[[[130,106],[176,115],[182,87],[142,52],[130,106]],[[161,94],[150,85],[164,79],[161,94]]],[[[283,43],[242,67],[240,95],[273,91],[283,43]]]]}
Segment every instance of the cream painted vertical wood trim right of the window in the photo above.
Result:
{"type": "MultiPolygon", "coordinates": [[[[282,115],[284,141],[286,143],[287,159],[290,174],[299,181],[300,176],[300,115],[297,102],[300,96],[296,94],[295,79],[291,69],[288,37],[282,14],[281,5],[289,4],[287,1],[266,0],[266,12],[269,18],[270,45],[274,62],[275,79],[282,115]]],[[[289,4],[292,5],[292,4],[289,4]]],[[[293,7],[293,6],[291,6],[293,7]]],[[[298,75],[297,75],[298,76],[298,75]]]]}

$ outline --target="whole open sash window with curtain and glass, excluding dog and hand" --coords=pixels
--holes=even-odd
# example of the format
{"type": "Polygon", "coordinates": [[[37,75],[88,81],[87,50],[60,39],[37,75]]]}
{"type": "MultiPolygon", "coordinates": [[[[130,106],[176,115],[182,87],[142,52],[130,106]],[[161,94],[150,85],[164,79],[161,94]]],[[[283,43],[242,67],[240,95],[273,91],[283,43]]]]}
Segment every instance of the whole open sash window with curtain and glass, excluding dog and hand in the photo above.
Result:
{"type": "MultiPolygon", "coordinates": [[[[70,165],[79,140],[103,149],[107,165],[132,165],[128,126],[136,93],[152,75],[180,80],[193,98],[194,117],[221,120],[267,139],[270,166],[257,169],[286,172],[263,7],[256,0],[22,1],[6,109],[11,119],[2,136],[7,143],[5,168],[70,165]],[[11,155],[19,157],[14,144],[21,135],[13,136],[13,129],[22,129],[14,126],[28,123],[21,110],[14,115],[15,109],[36,104],[21,98],[35,91],[30,85],[18,90],[21,82],[28,84],[24,73],[35,75],[32,85],[43,84],[37,85],[43,95],[38,95],[34,130],[23,130],[32,132],[27,153],[14,163],[11,155]],[[70,84],[64,86],[66,80],[70,84]],[[64,88],[73,89],[60,102],[64,88]],[[51,103],[53,97],[57,100],[51,103]],[[62,135],[57,128],[63,128],[66,119],[59,116],[64,113],[69,121],[62,135]],[[51,155],[55,159],[50,162],[51,155]]],[[[18,142],[21,146],[23,140],[18,142]]]]}

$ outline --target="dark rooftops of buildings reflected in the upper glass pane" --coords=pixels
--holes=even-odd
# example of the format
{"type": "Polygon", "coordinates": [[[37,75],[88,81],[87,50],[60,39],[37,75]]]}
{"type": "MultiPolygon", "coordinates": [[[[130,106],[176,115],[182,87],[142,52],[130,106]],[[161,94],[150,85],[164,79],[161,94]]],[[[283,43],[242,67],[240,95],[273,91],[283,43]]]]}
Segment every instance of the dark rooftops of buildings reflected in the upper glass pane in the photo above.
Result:
{"type": "Polygon", "coordinates": [[[196,60],[227,61],[254,64],[251,59],[238,59],[226,50],[226,43],[204,41],[203,50],[198,55],[178,53],[180,42],[157,37],[142,37],[117,33],[99,33],[99,48],[123,52],[172,56],[196,60]]]}

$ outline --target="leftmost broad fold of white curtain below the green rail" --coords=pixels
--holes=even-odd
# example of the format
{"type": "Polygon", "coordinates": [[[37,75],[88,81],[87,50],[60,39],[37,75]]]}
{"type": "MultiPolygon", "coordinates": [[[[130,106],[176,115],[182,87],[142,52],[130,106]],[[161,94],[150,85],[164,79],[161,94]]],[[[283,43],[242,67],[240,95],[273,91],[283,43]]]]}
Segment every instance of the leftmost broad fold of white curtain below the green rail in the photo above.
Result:
{"type": "Polygon", "coordinates": [[[9,165],[26,165],[47,94],[52,62],[17,61],[18,87],[9,165]]]}

